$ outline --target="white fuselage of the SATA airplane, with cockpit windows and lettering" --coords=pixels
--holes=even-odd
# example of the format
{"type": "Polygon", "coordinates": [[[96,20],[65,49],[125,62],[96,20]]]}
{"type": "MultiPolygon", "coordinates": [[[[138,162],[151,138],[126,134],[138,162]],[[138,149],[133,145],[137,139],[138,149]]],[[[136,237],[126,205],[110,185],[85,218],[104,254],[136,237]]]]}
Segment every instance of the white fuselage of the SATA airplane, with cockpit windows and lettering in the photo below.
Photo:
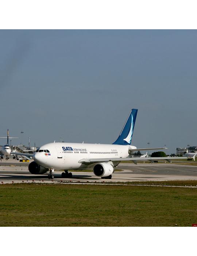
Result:
{"type": "Polygon", "coordinates": [[[86,144],[86,143],[49,143],[36,150],[34,161],[54,170],[86,169],[87,165],[79,163],[85,158],[125,158],[131,145],[86,144]]]}

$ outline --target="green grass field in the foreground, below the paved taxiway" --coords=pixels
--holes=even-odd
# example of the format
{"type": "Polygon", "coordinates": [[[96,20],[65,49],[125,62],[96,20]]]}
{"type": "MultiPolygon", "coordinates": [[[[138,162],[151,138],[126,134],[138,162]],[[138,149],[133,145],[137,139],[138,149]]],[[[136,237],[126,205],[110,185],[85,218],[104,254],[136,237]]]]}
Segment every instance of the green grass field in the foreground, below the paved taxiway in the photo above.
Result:
{"type": "Polygon", "coordinates": [[[191,226],[195,188],[0,185],[0,226],[191,226]]]}

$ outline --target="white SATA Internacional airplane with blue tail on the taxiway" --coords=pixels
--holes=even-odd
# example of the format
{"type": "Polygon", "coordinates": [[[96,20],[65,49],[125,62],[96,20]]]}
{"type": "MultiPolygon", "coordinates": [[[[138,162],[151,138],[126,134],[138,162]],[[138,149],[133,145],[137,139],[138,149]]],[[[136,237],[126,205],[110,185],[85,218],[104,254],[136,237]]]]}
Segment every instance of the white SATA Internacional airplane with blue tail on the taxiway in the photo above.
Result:
{"type": "MultiPolygon", "coordinates": [[[[48,172],[48,177],[54,178],[55,170],[64,170],[62,178],[72,177],[67,170],[83,170],[93,166],[93,172],[101,178],[112,178],[114,168],[121,161],[150,161],[165,159],[170,161],[173,157],[135,157],[128,158],[133,151],[158,150],[166,148],[136,148],[131,146],[134,132],[137,109],[132,109],[124,127],[112,144],[86,144],[86,143],[49,143],[38,148],[34,154],[28,155],[34,158],[28,169],[32,174],[43,174],[48,172]]],[[[16,153],[19,154],[19,153],[16,153]]],[[[176,158],[178,159],[178,158],[176,158]]],[[[179,157],[187,159],[187,157],[179,157]]]]}

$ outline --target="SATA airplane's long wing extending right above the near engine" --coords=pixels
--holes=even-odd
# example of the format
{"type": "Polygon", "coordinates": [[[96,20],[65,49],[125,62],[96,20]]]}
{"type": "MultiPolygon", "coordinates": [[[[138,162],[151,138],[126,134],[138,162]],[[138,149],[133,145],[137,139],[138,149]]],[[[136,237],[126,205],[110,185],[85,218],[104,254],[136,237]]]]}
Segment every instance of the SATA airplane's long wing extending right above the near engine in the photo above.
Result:
{"type": "MultiPolygon", "coordinates": [[[[154,161],[165,160],[171,163],[171,160],[175,159],[188,159],[191,157],[125,157],[125,158],[84,158],[78,161],[79,163],[92,164],[92,163],[101,163],[101,162],[122,162],[122,161],[131,161],[137,164],[137,161],[149,161],[154,163],[154,161]]],[[[193,158],[193,157],[192,157],[193,158]]],[[[193,158],[195,161],[195,158],[193,158]]]]}

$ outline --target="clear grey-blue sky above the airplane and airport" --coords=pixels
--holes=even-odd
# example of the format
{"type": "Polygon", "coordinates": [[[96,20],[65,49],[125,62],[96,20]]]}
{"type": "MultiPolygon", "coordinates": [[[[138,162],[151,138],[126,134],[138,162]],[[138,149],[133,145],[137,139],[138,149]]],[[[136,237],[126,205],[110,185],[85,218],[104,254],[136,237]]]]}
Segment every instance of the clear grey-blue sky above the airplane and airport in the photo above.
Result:
{"type": "Polygon", "coordinates": [[[133,145],[166,144],[167,153],[197,145],[197,31],[1,30],[0,38],[0,136],[9,128],[31,146],[60,136],[112,143],[138,108],[133,145]]]}

